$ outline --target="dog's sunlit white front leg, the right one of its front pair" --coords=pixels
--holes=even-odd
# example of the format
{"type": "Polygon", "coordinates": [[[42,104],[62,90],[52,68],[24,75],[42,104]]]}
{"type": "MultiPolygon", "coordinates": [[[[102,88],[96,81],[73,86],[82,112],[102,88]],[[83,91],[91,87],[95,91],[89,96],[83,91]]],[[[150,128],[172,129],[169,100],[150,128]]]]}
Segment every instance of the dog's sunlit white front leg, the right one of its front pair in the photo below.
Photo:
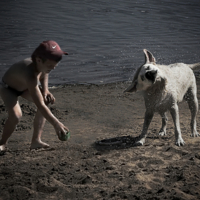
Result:
{"type": "Polygon", "coordinates": [[[178,105],[176,103],[171,107],[170,113],[172,115],[172,119],[174,121],[174,126],[175,126],[176,145],[183,146],[185,144],[185,142],[181,135],[180,122],[179,122],[179,109],[178,109],[178,105]]]}

